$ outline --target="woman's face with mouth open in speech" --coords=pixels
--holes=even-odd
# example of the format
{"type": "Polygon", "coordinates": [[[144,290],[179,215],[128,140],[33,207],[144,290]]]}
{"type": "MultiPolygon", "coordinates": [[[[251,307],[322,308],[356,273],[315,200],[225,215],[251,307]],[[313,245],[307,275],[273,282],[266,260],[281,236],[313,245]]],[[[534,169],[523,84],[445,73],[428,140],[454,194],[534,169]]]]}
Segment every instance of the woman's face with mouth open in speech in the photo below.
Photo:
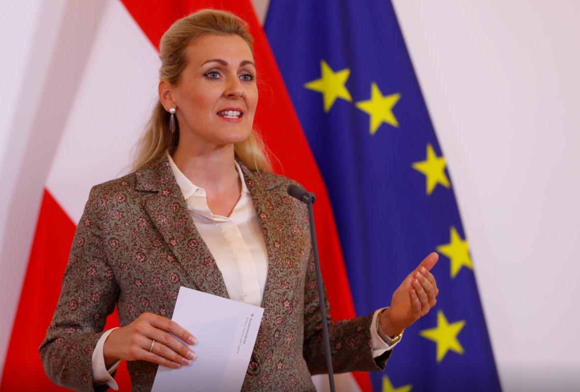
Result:
{"type": "Polygon", "coordinates": [[[186,54],[187,67],[171,93],[180,141],[202,148],[244,141],[258,104],[248,44],[238,35],[205,35],[186,54]]]}

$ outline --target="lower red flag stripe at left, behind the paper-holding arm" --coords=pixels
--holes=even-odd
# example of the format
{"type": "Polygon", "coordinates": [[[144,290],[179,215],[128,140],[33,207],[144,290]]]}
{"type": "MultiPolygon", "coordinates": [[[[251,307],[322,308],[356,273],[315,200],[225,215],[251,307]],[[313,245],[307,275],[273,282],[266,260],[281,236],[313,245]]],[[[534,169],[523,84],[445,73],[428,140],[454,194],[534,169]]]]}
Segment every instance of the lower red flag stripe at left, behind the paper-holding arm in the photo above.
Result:
{"type": "MultiPolygon", "coordinates": [[[[28,268],[6,353],[0,391],[64,391],[44,373],[38,347],[59,299],[60,284],[73,242],[75,224],[48,190],[44,191],[28,268]]],[[[115,312],[106,329],[119,325],[115,312]]],[[[122,390],[131,390],[126,366],[117,377],[122,390]]]]}

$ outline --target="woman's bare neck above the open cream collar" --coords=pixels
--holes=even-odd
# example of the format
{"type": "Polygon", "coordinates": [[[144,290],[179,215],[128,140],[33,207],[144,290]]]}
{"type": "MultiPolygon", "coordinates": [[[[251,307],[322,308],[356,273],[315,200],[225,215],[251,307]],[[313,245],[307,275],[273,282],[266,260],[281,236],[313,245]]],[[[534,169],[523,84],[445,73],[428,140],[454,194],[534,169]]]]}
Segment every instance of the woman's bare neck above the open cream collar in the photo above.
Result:
{"type": "Polygon", "coordinates": [[[172,158],[177,168],[192,183],[206,191],[219,192],[239,183],[233,144],[216,147],[211,151],[196,151],[179,143],[172,158]]]}

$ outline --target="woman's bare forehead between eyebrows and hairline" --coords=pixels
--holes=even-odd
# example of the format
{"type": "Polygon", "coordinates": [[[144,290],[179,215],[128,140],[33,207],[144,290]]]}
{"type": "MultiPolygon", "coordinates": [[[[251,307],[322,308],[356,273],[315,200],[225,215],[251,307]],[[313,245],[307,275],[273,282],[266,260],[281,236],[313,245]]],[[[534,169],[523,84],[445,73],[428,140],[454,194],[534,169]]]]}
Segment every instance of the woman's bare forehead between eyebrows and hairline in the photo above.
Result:
{"type": "Polygon", "coordinates": [[[244,60],[253,61],[252,50],[239,35],[204,35],[191,42],[186,53],[192,66],[201,66],[211,59],[222,59],[234,65],[244,60]]]}

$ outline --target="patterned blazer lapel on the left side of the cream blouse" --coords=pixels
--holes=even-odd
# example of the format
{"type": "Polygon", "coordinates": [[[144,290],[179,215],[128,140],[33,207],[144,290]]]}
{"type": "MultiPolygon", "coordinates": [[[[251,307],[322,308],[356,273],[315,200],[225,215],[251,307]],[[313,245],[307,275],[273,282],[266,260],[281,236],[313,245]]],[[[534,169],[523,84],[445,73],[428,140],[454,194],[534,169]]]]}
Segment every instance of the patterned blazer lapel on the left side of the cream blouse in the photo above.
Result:
{"type": "Polygon", "coordinates": [[[155,193],[144,208],[195,289],[229,298],[222,273],[191,219],[168,159],[136,172],[136,191],[155,193]]]}

